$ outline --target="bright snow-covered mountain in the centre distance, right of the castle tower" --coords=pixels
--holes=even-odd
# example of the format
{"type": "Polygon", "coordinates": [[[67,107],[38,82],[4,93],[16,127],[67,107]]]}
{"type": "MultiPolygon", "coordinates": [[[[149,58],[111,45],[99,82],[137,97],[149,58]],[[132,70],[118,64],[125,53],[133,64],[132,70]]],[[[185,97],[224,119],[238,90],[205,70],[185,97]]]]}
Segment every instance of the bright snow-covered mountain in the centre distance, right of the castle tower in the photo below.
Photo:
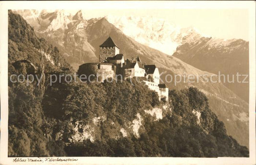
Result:
{"type": "Polygon", "coordinates": [[[149,16],[120,17],[108,15],[105,18],[135,41],[168,55],[172,55],[179,45],[195,41],[201,37],[201,34],[194,27],[181,28],[164,19],[149,16]]]}

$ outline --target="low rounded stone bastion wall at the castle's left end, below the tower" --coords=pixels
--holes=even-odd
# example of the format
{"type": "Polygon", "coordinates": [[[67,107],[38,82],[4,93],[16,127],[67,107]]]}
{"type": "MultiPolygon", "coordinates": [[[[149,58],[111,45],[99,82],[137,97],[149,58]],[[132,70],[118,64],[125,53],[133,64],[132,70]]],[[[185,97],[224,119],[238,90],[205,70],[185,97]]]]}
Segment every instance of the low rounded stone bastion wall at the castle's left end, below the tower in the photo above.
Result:
{"type": "Polygon", "coordinates": [[[115,72],[116,67],[109,63],[85,63],[79,67],[77,74],[85,74],[87,81],[89,78],[90,81],[96,81],[98,78],[99,82],[104,82],[108,78],[115,79],[115,72]]]}

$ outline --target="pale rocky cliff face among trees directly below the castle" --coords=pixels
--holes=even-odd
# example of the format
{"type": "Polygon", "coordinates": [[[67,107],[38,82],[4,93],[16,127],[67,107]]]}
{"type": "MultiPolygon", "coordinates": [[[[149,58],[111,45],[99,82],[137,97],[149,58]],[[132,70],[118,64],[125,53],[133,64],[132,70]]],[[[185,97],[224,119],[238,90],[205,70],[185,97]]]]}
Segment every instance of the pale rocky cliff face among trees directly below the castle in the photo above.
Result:
{"type": "MultiPolygon", "coordinates": [[[[152,107],[152,109],[145,109],[144,112],[137,113],[134,119],[128,120],[123,124],[116,122],[115,120],[107,118],[107,116],[99,116],[91,118],[88,123],[85,124],[84,120],[74,121],[70,123],[73,130],[73,134],[68,138],[67,144],[79,143],[86,140],[94,141],[106,141],[108,139],[122,139],[127,138],[140,138],[142,132],[145,132],[145,123],[148,118],[148,114],[152,116],[150,122],[158,121],[165,117],[166,114],[171,114],[170,106],[152,107]],[[115,122],[114,122],[115,121],[115,122]],[[73,124],[74,123],[74,124],[73,124]],[[104,123],[104,124],[103,124],[104,123]],[[104,130],[102,130],[104,125],[104,130]],[[102,131],[104,134],[102,134],[102,131]]],[[[62,134],[62,137],[66,134],[62,134]]],[[[59,137],[59,138],[62,138],[59,137]]]]}

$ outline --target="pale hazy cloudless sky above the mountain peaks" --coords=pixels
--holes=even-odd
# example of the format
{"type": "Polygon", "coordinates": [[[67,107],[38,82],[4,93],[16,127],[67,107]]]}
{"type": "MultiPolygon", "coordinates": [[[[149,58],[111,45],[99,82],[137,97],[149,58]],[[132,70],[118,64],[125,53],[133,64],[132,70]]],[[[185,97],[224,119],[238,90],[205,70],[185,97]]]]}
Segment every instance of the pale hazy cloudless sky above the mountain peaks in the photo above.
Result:
{"type": "MultiPolygon", "coordinates": [[[[78,10],[65,10],[75,14],[78,10]]],[[[83,10],[86,18],[106,15],[153,16],[181,27],[194,26],[203,35],[241,38],[248,41],[248,11],[243,9],[93,9],[83,10]]]]}

